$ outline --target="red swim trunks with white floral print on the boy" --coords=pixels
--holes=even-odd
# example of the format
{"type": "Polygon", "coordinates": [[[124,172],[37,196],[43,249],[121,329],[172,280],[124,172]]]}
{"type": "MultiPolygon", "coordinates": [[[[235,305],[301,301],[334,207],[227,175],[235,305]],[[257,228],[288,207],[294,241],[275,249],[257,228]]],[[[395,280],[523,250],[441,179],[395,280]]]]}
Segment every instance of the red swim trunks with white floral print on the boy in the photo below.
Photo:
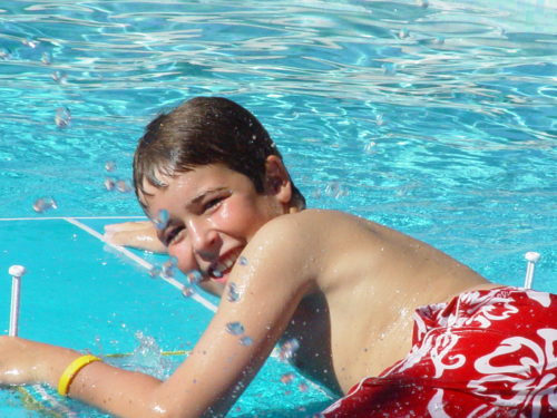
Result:
{"type": "Polygon", "coordinates": [[[324,418],[557,417],[557,295],[517,288],[419,308],[410,353],[324,418]]]}

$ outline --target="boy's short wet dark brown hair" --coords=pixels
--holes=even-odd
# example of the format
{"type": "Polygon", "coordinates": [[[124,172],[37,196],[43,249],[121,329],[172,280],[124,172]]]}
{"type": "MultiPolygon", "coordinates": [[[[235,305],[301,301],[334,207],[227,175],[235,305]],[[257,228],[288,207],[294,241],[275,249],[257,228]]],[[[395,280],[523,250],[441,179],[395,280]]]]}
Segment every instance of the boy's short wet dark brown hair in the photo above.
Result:
{"type": "MultiPolygon", "coordinates": [[[[282,159],[268,133],[248,110],[222,97],[196,97],[147,125],[134,156],[136,195],[145,207],[144,182],[164,188],[165,177],[218,163],[247,176],[257,193],[263,193],[270,155],[282,159]]],[[[305,206],[293,183],[292,196],[293,205],[305,206]]]]}

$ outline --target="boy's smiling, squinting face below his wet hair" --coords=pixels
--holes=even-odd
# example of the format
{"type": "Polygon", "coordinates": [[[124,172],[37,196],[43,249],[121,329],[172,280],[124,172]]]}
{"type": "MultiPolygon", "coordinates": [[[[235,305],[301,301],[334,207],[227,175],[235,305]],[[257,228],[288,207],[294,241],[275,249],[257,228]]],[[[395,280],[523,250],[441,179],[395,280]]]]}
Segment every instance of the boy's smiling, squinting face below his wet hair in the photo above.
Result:
{"type": "Polygon", "coordinates": [[[198,166],[164,178],[166,188],[145,184],[152,218],[168,212],[158,232],[183,272],[225,282],[242,250],[270,220],[286,212],[280,189],[258,194],[252,181],[223,164],[198,166]]]}

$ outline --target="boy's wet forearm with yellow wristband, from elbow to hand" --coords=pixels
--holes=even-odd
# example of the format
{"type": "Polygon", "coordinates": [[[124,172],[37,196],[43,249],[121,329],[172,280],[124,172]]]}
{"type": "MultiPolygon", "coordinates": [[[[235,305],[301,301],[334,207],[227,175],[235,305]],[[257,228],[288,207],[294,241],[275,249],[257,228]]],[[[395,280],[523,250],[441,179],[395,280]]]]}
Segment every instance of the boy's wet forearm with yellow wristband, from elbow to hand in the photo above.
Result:
{"type": "MultiPolygon", "coordinates": [[[[67,372],[82,353],[16,337],[0,337],[0,385],[47,383],[58,389],[60,378],[72,376],[67,395],[124,418],[197,418],[217,400],[196,392],[195,379],[160,381],[152,376],[94,361],[67,372]]],[[[203,373],[205,375],[205,373],[203,373]]],[[[190,376],[186,372],[184,376],[190,376]]]]}

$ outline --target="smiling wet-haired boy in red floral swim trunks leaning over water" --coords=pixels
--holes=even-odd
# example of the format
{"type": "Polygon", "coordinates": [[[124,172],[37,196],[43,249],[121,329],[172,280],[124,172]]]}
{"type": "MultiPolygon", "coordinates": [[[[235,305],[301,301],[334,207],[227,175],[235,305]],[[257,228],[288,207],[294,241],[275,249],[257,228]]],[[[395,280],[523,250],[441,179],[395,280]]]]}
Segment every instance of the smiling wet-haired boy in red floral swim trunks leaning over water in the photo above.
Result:
{"type": "Polygon", "coordinates": [[[305,210],[268,134],[235,103],[199,97],[157,117],[134,181],[178,268],[235,297],[166,381],[3,337],[0,382],[47,382],[121,417],[221,417],[278,339],[295,338],[303,372],[350,391],[328,418],[555,412],[555,295],[497,286],[401,233],[305,210]]]}

